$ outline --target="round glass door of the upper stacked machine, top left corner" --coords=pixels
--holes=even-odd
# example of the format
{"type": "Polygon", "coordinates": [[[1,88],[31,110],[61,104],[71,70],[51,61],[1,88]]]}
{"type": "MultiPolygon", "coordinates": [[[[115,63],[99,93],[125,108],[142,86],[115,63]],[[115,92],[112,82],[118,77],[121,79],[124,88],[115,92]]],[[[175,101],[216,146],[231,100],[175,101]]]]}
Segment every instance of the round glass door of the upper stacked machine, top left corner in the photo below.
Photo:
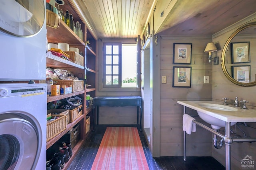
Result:
{"type": "Polygon", "coordinates": [[[44,24],[43,0],[0,0],[0,30],[18,37],[36,35],[44,24]]]}

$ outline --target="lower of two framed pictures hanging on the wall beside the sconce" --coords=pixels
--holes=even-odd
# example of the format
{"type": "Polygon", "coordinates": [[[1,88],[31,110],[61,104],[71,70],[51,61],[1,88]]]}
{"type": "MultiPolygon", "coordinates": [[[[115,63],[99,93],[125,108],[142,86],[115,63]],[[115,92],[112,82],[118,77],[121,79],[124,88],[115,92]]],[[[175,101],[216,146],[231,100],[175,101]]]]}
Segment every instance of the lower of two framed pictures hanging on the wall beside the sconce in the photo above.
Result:
{"type": "Polygon", "coordinates": [[[192,67],[173,67],[172,87],[191,87],[192,67]]]}

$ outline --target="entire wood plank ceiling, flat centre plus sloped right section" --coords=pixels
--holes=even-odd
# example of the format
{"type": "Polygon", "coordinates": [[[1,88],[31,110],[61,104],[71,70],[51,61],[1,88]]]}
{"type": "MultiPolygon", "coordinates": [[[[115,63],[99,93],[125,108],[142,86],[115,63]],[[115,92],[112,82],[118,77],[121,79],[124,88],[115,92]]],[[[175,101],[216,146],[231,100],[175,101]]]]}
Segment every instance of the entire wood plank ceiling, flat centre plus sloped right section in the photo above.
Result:
{"type": "Polygon", "coordinates": [[[256,12],[255,0],[76,1],[100,39],[136,38],[145,31],[155,7],[164,11],[164,20],[154,25],[155,31],[166,35],[212,35],[256,12]],[[175,4],[168,9],[172,1],[175,4]]]}

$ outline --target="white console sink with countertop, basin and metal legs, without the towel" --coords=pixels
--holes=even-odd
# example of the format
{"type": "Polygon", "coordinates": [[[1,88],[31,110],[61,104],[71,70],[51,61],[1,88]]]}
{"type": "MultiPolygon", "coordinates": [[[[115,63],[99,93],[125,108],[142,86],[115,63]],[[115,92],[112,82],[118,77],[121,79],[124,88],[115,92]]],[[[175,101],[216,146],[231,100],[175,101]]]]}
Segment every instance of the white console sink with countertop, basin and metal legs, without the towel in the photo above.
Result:
{"type": "MultiPolygon", "coordinates": [[[[197,125],[218,135],[225,142],[226,152],[226,169],[231,168],[231,144],[235,142],[255,142],[256,138],[232,139],[230,134],[230,126],[236,122],[256,122],[256,109],[240,109],[233,106],[224,106],[221,102],[216,101],[178,101],[183,105],[183,114],[186,113],[186,107],[194,109],[198,115],[207,123],[212,125],[213,129],[225,127],[225,136],[211,128],[203,125],[198,121],[194,121],[197,125]],[[201,125],[200,125],[201,124],[201,125]]],[[[184,134],[184,160],[186,160],[186,132],[184,134]]]]}

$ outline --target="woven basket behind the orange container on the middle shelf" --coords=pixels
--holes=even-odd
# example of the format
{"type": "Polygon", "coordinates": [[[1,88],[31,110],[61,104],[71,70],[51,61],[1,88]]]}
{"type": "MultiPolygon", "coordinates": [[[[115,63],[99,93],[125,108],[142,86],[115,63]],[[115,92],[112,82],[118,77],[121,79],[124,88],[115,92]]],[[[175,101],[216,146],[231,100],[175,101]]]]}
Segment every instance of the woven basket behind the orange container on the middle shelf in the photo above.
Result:
{"type": "Polygon", "coordinates": [[[53,84],[59,84],[61,87],[72,85],[72,92],[84,90],[83,80],[53,80],[53,84]]]}

